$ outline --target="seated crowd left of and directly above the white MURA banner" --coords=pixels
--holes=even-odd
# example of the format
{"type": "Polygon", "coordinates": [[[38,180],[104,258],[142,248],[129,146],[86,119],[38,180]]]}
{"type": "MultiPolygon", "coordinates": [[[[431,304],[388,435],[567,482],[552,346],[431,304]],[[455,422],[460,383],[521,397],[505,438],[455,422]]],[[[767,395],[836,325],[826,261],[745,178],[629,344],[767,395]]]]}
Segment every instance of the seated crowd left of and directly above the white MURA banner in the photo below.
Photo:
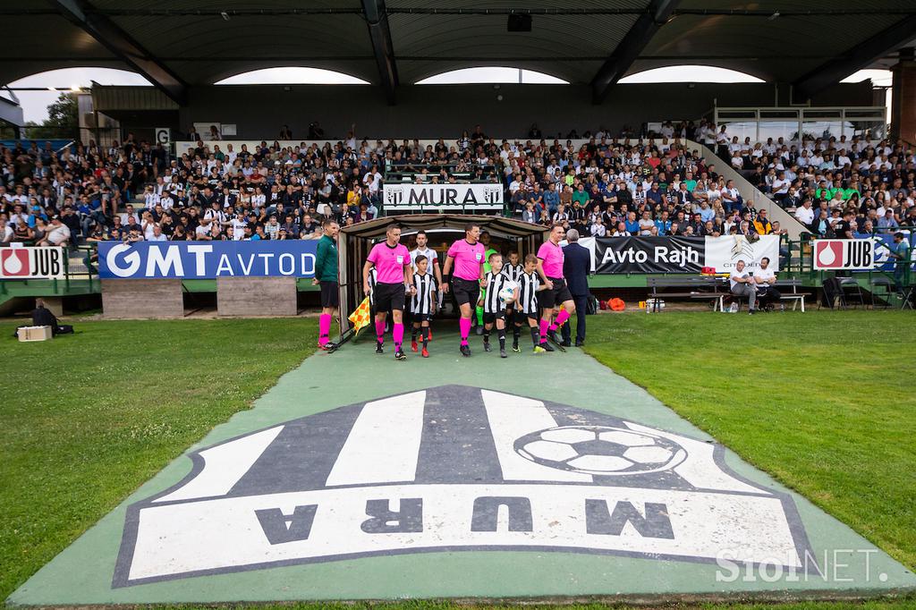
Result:
{"type": "Polygon", "coordinates": [[[322,147],[198,141],[177,158],[132,134],[111,147],[0,147],[0,244],[318,239],[325,218],[347,226],[376,217],[384,169],[433,182],[466,169],[471,180],[497,181],[497,146],[479,128],[452,146],[353,134],[322,147]]]}

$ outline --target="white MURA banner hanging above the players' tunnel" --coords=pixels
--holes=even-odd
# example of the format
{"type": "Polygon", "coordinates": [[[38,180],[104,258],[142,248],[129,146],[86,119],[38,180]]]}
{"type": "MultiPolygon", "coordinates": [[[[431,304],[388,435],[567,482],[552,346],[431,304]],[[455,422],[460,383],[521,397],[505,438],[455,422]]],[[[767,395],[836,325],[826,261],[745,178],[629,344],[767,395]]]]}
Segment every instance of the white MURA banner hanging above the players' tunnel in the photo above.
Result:
{"type": "Polygon", "coordinates": [[[499,184],[386,184],[387,210],[502,210],[499,184]]]}

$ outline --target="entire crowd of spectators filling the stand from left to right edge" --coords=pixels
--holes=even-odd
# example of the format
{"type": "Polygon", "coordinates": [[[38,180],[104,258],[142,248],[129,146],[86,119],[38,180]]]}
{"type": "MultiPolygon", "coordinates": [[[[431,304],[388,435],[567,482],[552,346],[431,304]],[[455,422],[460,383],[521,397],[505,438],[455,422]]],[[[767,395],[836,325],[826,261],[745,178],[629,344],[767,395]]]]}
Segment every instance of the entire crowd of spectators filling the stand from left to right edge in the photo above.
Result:
{"type": "Polygon", "coordinates": [[[682,136],[714,147],[816,236],[916,225],[913,150],[889,142],[739,143],[707,122],[665,123],[646,140],[598,130],[581,147],[549,144],[537,125],[524,143],[497,143],[480,125],[425,147],[354,134],[355,125],[336,144],[252,150],[198,140],[177,158],[133,135],[60,152],[0,147],[0,243],[318,239],[324,218],[346,226],[378,215],[383,171],[421,183],[502,181],[517,217],[584,235],[784,233],[716,171],[719,159],[699,157],[682,136]]]}

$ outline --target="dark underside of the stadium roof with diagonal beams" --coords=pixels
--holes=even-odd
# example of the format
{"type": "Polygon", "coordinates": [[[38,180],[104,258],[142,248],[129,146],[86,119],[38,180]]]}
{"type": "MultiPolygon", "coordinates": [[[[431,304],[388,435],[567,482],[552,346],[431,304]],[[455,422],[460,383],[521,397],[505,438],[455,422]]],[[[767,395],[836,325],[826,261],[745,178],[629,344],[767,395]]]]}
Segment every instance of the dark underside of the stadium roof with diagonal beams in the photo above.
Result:
{"type": "MultiPolygon", "coordinates": [[[[179,103],[189,85],[276,66],[399,83],[474,66],[541,71],[593,87],[704,64],[795,85],[796,99],[916,42],[912,0],[11,0],[0,7],[0,84],[41,71],[138,71],[179,103]],[[267,6],[267,7],[265,7],[267,6]],[[507,32],[510,13],[529,32],[507,32]]],[[[882,64],[882,60],[884,63],[882,64]]]]}

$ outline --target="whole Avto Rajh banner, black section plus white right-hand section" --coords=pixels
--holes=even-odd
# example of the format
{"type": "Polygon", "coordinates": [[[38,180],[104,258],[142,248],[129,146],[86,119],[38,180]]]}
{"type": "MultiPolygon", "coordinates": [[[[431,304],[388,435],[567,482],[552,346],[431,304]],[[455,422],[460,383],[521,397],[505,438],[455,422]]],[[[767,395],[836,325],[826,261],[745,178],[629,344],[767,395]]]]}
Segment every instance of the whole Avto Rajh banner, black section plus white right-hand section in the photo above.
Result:
{"type": "Polygon", "coordinates": [[[744,235],[723,237],[598,237],[594,240],[595,273],[699,273],[713,267],[731,271],[739,260],[753,273],[760,259],[780,270],[780,238],[761,235],[750,241],[744,235]]]}

